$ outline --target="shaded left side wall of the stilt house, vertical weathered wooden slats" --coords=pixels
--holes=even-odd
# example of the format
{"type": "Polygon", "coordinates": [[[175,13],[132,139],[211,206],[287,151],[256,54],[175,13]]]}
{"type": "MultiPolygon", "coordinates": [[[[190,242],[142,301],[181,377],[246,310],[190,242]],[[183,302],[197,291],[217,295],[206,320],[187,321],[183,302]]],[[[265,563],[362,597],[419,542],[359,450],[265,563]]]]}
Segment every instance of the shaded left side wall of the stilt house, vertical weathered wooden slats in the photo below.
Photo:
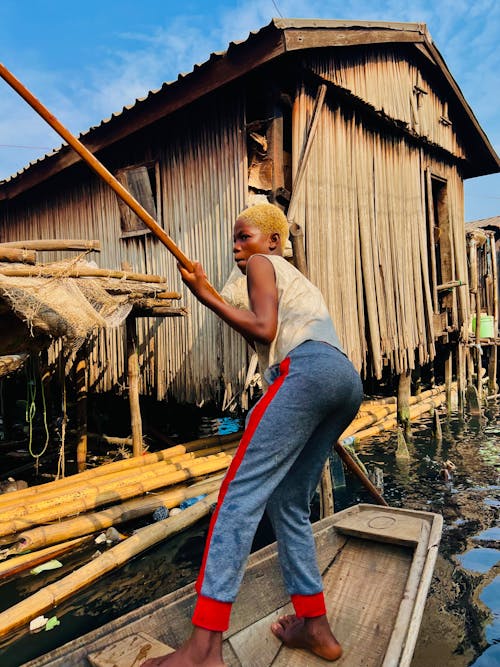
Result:
{"type": "MultiPolygon", "coordinates": [[[[232,269],[232,226],[247,198],[244,99],[219,93],[202,107],[178,116],[144,144],[127,140],[113,153],[114,169],[158,160],[159,222],[191,258],[202,262],[221,289],[232,269]],[[125,152],[126,151],[126,152],[125,152]]],[[[1,216],[1,213],[0,213],[1,216]]],[[[90,254],[100,266],[167,277],[185,291],[185,318],[138,321],[142,393],[179,401],[221,400],[229,380],[237,391],[245,378],[246,345],[184,290],[174,258],[151,234],[121,238],[115,194],[90,174],[64,190],[40,188],[11,203],[0,218],[3,241],[23,238],[100,239],[102,252],[90,254]],[[85,233],[84,233],[85,232],[85,233]]],[[[44,261],[62,258],[43,255],[44,261]]],[[[106,391],[125,383],[123,330],[101,331],[91,350],[89,381],[106,391]]]]}

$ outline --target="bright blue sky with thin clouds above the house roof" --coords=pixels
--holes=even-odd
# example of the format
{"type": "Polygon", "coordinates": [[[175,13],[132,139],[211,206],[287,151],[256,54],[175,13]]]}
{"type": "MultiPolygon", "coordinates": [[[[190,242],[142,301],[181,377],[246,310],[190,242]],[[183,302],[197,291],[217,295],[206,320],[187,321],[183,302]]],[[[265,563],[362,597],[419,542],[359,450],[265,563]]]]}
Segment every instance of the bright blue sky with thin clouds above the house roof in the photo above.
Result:
{"type": "MultiPolygon", "coordinates": [[[[0,62],[73,133],[273,16],[427,23],[500,152],[498,0],[1,0],[0,62]]],[[[61,139],[0,80],[0,179],[61,139]]],[[[500,174],[466,181],[466,220],[500,215],[500,174]]]]}

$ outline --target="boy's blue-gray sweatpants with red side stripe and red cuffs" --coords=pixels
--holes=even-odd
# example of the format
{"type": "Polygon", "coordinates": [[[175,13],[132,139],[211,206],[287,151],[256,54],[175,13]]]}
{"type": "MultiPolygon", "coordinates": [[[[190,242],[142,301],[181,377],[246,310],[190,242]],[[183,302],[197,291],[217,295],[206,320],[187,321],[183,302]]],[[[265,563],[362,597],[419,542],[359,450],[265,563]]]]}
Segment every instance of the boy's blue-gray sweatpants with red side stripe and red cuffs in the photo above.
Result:
{"type": "Polygon", "coordinates": [[[264,510],[297,615],[325,613],[310,502],[332,445],[359,409],[361,380],[342,352],[317,341],[302,343],[269,372],[269,389],[248,416],[210,523],[193,615],[209,630],[229,626],[264,510]]]}

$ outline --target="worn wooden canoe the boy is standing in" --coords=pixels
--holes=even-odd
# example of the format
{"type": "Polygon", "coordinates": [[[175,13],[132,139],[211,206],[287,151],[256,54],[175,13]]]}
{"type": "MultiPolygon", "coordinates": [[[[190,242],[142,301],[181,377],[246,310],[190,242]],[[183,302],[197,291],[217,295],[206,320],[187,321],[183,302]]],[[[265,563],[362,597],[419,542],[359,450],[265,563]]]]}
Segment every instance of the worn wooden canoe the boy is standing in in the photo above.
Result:
{"type": "MultiPolygon", "coordinates": [[[[314,524],[329,618],[344,648],[336,665],[409,667],[441,529],[437,514],[364,504],[314,524]]],[[[145,642],[158,650],[158,642],[176,647],[189,635],[195,599],[190,584],[24,667],[136,667],[145,655],[158,654],[148,653],[145,642]],[[123,660],[117,660],[117,651],[123,660]]],[[[293,611],[271,544],[249,559],[224,642],[228,667],[332,664],[287,649],[272,635],[270,624],[287,613],[293,611]]]]}

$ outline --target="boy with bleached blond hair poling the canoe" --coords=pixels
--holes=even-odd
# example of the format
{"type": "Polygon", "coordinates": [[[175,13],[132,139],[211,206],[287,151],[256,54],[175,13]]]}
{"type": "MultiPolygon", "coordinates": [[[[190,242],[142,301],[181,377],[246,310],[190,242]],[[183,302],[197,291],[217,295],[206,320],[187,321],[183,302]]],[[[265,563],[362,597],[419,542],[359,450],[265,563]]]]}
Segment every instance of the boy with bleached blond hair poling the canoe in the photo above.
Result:
{"type": "Polygon", "coordinates": [[[196,583],[191,637],[143,667],[222,667],[222,633],[258,523],[267,511],[295,615],[271,626],[285,645],[336,660],[309,521],[309,506],[332,444],[362,398],[359,375],[342,352],[319,290],[283,258],[288,223],[272,204],[245,209],[234,226],[233,254],[246,275],[248,308],[220,301],[200,264],[180,268],[198,300],[257,350],[267,391],[222,484],[196,583]]]}

